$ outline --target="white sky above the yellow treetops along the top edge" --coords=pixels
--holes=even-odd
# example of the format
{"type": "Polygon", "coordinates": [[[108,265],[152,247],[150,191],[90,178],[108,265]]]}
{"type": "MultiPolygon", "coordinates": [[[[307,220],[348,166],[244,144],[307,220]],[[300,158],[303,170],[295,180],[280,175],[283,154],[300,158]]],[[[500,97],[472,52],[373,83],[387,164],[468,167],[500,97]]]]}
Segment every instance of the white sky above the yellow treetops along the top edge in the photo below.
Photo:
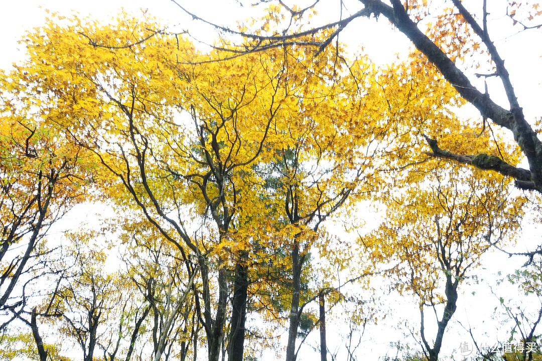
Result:
{"type": "MultiPolygon", "coordinates": [[[[308,2],[307,0],[290,1],[289,3],[308,2]]],[[[312,2],[312,1],[311,1],[312,2]]],[[[489,23],[495,44],[501,51],[501,54],[506,60],[509,69],[513,69],[512,81],[514,84],[531,83],[530,87],[517,87],[520,96],[520,102],[523,104],[538,104],[538,94],[540,91],[533,91],[533,87],[540,87],[542,82],[541,72],[539,71],[539,61],[542,56],[542,47],[533,46],[540,44],[541,38],[532,40],[533,31],[525,32],[524,34],[508,37],[509,29],[501,34],[497,31],[506,29],[501,27],[501,23],[509,24],[505,20],[504,14],[501,14],[504,0],[495,0],[490,2],[495,5],[495,11],[491,14],[496,19],[489,23]],[[498,9],[498,11],[497,11],[498,9]],[[533,83],[533,81],[535,83],[533,83]],[[523,101],[522,101],[523,100],[523,101]]],[[[4,20],[0,22],[0,69],[8,69],[13,61],[20,60],[24,55],[24,45],[17,44],[17,41],[22,37],[25,30],[37,27],[44,22],[46,13],[45,8],[51,11],[59,11],[61,14],[69,14],[70,10],[79,12],[81,16],[92,14],[92,17],[106,21],[109,17],[114,16],[119,12],[119,9],[124,8],[127,12],[136,13],[139,9],[149,9],[150,14],[159,19],[163,19],[168,25],[179,25],[180,29],[190,29],[192,35],[195,35],[198,40],[210,43],[215,38],[215,32],[203,24],[192,21],[191,17],[184,14],[175,3],[170,0],[25,0],[25,1],[9,1],[2,0],[2,10],[4,20]],[[40,6],[42,8],[40,9],[40,6]],[[17,51],[20,49],[20,51],[17,51]],[[22,50],[22,51],[21,51],[22,50]]],[[[247,6],[242,8],[237,0],[207,0],[207,1],[183,1],[179,0],[180,4],[186,6],[196,15],[202,16],[205,19],[222,25],[230,25],[235,27],[235,21],[238,19],[246,19],[250,16],[250,8],[247,6]]],[[[322,1],[318,8],[318,17],[313,19],[312,25],[318,25],[323,21],[338,19],[338,0],[322,1]]],[[[354,11],[359,8],[359,2],[347,0],[345,6],[348,10],[354,11]]],[[[492,10],[492,9],[490,9],[492,10]]],[[[345,11],[346,12],[346,11],[345,11]]],[[[540,34],[540,31],[539,31],[540,34]]],[[[340,40],[350,44],[350,49],[355,50],[359,45],[363,45],[365,51],[371,55],[373,61],[383,64],[392,61],[397,52],[405,54],[410,43],[406,38],[396,32],[390,30],[386,22],[380,21],[370,23],[354,21],[341,32],[340,40]]],[[[494,79],[489,79],[490,89],[491,82],[494,79]]],[[[479,87],[483,85],[477,84],[479,87]]],[[[540,89],[540,88],[538,88],[540,89]]],[[[535,117],[540,114],[539,108],[524,106],[527,116],[535,117]]]]}

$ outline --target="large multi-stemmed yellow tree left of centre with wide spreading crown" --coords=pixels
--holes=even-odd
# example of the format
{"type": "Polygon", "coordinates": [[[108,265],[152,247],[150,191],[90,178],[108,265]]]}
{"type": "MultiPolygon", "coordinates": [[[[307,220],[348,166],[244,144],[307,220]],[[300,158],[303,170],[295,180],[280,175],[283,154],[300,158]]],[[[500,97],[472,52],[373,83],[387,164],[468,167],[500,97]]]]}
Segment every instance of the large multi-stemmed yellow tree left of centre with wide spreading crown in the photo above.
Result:
{"type": "MultiPolygon", "coordinates": [[[[124,25],[149,34],[148,24],[128,19],[124,25]]],[[[240,174],[249,172],[250,163],[262,152],[282,97],[278,93],[280,74],[266,69],[259,57],[254,62],[232,62],[229,71],[222,68],[222,77],[217,77],[216,65],[178,65],[179,56],[196,57],[180,36],[151,31],[152,39],[137,52],[131,47],[112,52],[89,46],[84,35],[70,29],[50,24],[46,32],[47,40],[40,35],[33,39],[36,50],[44,45],[40,49],[47,48],[51,55],[46,60],[46,53],[38,51],[40,61],[51,66],[36,69],[35,77],[47,79],[47,88],[58,90],[46,111],[71,112],[75,123],[62,123],[68,134],[75,143],[95,152],[109,179],[125,189],[110,195],[119,205],[139,208],[177,246],[189,278],[196,272],[189,258],[196,257],[202,280],[202,292],[194,292],[198,319],[207,336],[209,359],[217,360],[229,288],[228,259],[222,250],[234,242],[230,225],[244,199],[238,189],[248,189],[236,182],[246,182],[240,174]],[[54,47],[58,50],[52,50],[54,47]],[[78,59],[66,62],[58,56],[66,52],[78,59]],[[82,61],[83,57],[92,61],[82,61]],[[58,66],[60,63],[66,65],[58,66]],[[235,82],[238,86],[232,88],[235,82]],[[227,88],[235,91],[220,91],[227,88]],[[191,119],[179,121],[176,114],[191,119]],[[254,122],[237,122],[238,117],[250,117],[254,122]],[[191,221],[186,210],[190,208],[214,221],[214,225],[204,221],[209,232],[192,237],[186,231],[191,221]],[[171,218],[174,209],[177,219],[171,218]],[[212,316],[211,277],[215,275],[216,314],[212,316]]],[[[110,33],[111,29],[94,29],[92,34],[99,39],[110,33]]],[[[118,30],[115,36],[129,42],[138,35],[118,30]]],[[[243,212],[252,213],[249,204],[243,212]]]]}

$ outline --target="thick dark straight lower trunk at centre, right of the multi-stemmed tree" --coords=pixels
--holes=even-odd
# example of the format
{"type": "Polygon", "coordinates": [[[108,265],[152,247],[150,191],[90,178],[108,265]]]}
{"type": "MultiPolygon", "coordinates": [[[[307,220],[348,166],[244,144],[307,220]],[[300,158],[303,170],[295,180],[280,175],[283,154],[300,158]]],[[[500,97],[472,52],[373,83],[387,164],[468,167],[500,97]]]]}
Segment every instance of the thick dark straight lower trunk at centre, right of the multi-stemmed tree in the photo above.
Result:
{"type": "Polygon", "coordinates": [[[231,327],[229,335],[229,361],[243,361],[244,325],[247,319],[247,266],[237,262],[234,275],[234,298],[231,311],[231,327]]]}

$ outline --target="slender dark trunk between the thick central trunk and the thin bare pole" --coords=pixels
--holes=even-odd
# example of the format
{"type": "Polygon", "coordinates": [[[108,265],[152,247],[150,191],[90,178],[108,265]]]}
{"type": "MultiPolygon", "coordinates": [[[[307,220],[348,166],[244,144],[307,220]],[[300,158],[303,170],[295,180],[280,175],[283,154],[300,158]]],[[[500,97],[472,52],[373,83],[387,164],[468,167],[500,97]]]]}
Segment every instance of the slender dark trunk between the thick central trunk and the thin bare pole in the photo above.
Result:
{"type": "Polygon", "coordinates": [[[299,257],[299,243],[296,241],[292,251],[293,285],[292,285],[292,306],[290,308],[290,325],[288,330],[288,345],[286,346],[286,361],[294,361],[295,340],[298,337],[299,328],[299,298],[301,293],[301,265],[302,257],[299,257]]]}

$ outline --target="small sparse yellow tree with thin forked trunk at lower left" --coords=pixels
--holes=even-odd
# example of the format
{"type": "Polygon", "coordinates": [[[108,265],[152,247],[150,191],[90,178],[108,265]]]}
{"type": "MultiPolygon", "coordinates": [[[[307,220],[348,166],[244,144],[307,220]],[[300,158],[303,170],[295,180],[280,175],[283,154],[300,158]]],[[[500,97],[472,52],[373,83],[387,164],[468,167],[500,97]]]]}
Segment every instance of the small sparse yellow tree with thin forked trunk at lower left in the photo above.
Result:
{"type": "MultiPolygon", "coordinates": [[[[125,297],[128,294],[118,274],[104,269],[105,252],[97,250],[97,247],[89,249],[89,242],[92,242],[89,236],[92,237],[92,233],[72,234],[73,244],[66,247],[70,252],[63,257],[66,273],[62,275],[53,297],[46,300],[47,309],[60,316],[53,323],[61,334],[81,347],[85,361],[92,361],[102,339],[105,341],[106,334],[117,329],[119,307],[127,303],[125,297]]],[[[122,333],[122,316],[119,318],[122,333]]],[[[111,343],[109,346],[114,347],[111,343]]],[[[109,351],[113,360],[117,350],[107,348],[104,355],[109,351]]]]}

